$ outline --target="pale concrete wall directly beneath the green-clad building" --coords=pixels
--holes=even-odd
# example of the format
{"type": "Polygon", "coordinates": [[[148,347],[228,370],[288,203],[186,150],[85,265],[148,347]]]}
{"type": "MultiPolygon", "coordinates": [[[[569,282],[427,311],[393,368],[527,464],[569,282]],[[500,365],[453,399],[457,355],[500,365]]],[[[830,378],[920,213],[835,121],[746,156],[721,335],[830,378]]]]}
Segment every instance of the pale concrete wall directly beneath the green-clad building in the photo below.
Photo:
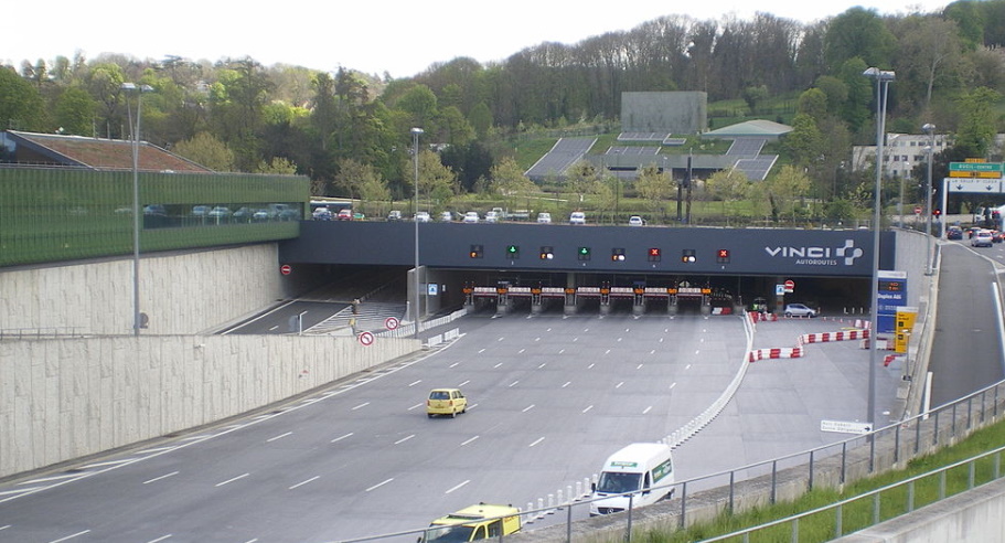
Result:
{"type": "MultiPolygon", "coordinates": [[[[199,333],[284,298],[276,244],[140,258],[143,333],[199,333]]],[[[132,333],[132,259],[0,270],[0,330],[132,333]]]]}

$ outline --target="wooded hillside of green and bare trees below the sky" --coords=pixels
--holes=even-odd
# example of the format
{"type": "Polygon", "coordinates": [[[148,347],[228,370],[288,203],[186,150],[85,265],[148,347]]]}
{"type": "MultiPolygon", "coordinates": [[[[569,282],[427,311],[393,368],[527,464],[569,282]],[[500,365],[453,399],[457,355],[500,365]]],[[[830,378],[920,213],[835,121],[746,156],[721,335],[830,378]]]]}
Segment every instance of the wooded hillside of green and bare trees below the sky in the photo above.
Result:
{"type": "Polygon", "coordinates": [[[0,118],[14,130],[130,138],[141,99],[143,140],[216,171],[299,173],[316,195],[400,200],[414,190],[411,127],[425,131],[423,193],[512,190],[526,187],[520,147],[535,137],[617,132],[623,92],[702,91],[712,120],[792,126],[778,152],[805,177],[802,195],[855,205],[869,189],[867,173],[847,171],[851,147],[876,140],[875,84],[863,72],[896,72],[887,131],[934,124],[952,136],[937,169],[1001,160],[1003,45],[1005,0],[961,0],[897,17],[852,8],[813,24],[666,15],[394,79],[250,57],[60,56],[0,66],[0,118]],[[124,83],[152,92],[137,97],[124,83]]]}

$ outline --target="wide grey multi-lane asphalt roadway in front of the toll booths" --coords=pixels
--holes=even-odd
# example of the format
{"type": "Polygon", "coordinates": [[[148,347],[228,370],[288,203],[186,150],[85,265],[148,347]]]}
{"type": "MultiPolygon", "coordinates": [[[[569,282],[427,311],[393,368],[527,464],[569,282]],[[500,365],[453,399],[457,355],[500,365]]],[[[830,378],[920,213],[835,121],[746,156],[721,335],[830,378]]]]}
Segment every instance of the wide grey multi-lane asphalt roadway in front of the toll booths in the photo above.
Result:
{"type": "MultiPolygon", "coordinates": [[[[676,450],[678,480],[840,440],[820,419],[865,413],[857,343],[748,365],[739,317],[477,315],[452,326],[462,336],[448,347],[310,397],[0,486],[0,541],[327,542],[420,528],[478,501],[525,508],[621,446],[682,427],[745,366],[725,412],[676,450]],[[469,412],[427,418],[437,386],[464,390],[469,412]]],[[[847,326],[763,322],[753,347],[847,326]]],[[[883,407],[899,370],[880,376],[883,407]]]]}

